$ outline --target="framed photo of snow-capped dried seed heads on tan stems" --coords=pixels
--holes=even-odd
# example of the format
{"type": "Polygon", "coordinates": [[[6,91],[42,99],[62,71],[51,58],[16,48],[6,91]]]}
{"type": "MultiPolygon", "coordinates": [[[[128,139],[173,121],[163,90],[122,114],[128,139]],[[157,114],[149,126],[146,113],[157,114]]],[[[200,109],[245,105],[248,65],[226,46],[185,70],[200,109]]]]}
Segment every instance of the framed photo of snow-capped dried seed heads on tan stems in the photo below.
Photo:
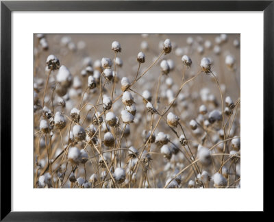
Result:
{"type": "Polygon", "coordinates": [[[240,35],[35,34],[34,188],[240,188],[240,35]]]}

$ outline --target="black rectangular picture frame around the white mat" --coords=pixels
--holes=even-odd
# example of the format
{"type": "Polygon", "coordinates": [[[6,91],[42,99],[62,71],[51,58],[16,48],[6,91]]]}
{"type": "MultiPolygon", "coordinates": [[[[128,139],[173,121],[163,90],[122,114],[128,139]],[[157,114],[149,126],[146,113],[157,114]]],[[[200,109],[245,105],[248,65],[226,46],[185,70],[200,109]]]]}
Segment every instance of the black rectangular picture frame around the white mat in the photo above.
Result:
{"type": "MultiPolygon", "coordinates": [[[[263,11],[264,12],[264,212],[271,210],[274,147],[274,1],[1,1],[1,221],[154,221],[165,212],[11,211],[11,13],[13,11],[263,11]],[[271,176],[269,176],[271,175],[271,176]]],[[[254,30],[256,32],[256,30],[254,30]]],[[[252,64],[251,64],[252,65],[252,64]]],[[[255,106],[256,104],[254,104],[255,106]]],[[[27,201],[27,200],[26,200],[27,201]]],[[[173,212],[180,217],[182,212],[173,212]]],[[[196,217],[196,216],[195,216],[196,217]]]]}

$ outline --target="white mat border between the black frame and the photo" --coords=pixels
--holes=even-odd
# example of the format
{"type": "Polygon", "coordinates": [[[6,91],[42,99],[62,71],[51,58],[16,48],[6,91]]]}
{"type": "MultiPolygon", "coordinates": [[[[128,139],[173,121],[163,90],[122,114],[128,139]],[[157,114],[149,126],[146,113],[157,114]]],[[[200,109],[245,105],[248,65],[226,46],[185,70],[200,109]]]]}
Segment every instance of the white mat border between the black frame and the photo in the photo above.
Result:
{"type": "Polygon", "coordinates": [[[12,12],[12,210],[262,210],[262,44],[262,12],[12,12]],[[68,32],[240,33],[241,188],[33,189],[33,33],[68,32]]]}

